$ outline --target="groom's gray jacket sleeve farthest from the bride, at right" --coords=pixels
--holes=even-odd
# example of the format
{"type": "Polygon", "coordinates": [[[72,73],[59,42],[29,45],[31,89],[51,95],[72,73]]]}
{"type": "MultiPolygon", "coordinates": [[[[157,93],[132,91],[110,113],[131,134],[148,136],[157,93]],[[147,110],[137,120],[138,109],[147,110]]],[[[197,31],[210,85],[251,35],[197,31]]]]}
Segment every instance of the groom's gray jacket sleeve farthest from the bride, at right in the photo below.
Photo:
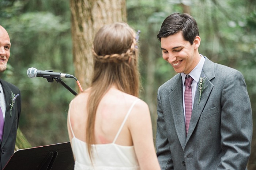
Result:
{"type": "Polygon", "coordinates": [[[226,77],[221,95],[221,148],[218,169],[246,169],[251,152],[252,109],[242,74],[226,77]]]}

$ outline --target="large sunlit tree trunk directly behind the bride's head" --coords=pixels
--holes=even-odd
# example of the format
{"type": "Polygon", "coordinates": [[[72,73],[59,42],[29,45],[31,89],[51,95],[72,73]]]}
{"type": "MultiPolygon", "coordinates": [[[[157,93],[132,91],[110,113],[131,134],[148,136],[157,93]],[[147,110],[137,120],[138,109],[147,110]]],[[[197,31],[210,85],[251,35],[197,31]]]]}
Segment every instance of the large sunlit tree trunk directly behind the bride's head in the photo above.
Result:
{"type": "Polygon", "coordinates": [[[95,33],[104,24],[126,22],[125,0],[70,0],[75,77],[83,89],[93,73],[92,46],[95,33]]]}

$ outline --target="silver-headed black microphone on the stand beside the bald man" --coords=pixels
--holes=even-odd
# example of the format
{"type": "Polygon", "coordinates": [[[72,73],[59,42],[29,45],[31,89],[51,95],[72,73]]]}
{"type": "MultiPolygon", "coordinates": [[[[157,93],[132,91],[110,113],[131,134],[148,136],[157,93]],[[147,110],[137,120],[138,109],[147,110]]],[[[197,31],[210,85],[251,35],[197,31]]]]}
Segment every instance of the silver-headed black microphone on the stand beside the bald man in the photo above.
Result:
{"type": "Polygon", "coordinates": [[[29,69],[27,69],[27,76],[29,76],[29,78],[34,78],[34,77],[56,77],[56,78],[74,78],[73,75],[70,75],[70,74],[64,74],[64,73],[60,73],[60,72],[53,72],[53,71],[50,71],[50,70],[45,70],[45,71],[42,71],[42,70],[37,70],[36,68],[34,67],[31,67],[29,69]]]}

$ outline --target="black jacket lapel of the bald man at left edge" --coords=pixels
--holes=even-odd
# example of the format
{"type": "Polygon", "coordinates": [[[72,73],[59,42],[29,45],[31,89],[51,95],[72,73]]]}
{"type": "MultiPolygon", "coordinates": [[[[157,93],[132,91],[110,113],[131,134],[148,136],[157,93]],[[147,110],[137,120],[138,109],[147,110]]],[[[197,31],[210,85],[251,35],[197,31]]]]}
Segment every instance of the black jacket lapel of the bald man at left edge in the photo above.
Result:
{"type": "Polygon", "coordinates": [[[1,145],[3,146],[6,142],[12,127],[12,123],[15,117],[15,106],[12,108],[12,116],[10,115],[10,103],[11,103],[11,88],[3,81],[1,81],[3,86],[5,101],[6,101],[6,111],[5,111],[5,118],[4,118],[4,134],[3,140],[1,145]]]}

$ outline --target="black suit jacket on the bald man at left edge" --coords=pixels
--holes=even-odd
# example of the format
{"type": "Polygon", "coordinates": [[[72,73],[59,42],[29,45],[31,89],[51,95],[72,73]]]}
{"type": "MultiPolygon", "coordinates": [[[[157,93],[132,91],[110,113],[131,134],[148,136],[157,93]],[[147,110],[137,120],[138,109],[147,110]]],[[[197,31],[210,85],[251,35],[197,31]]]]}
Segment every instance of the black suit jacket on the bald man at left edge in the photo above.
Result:
{"type": "Polygon", "coordinates": [[[16,135],[21,111],[21,96],[20,91],[16,86],[2,79],[0,79],[0,82],[3,86],[6,101],[3,140],[0,141],[0,167],[3,169],[13,155],[15,149],[16,135]],[[10,115],[11,92],[13,92],[15,95],[19,94],[15,100],[14,107],[12,107],[12,116],[10,115]]]}

